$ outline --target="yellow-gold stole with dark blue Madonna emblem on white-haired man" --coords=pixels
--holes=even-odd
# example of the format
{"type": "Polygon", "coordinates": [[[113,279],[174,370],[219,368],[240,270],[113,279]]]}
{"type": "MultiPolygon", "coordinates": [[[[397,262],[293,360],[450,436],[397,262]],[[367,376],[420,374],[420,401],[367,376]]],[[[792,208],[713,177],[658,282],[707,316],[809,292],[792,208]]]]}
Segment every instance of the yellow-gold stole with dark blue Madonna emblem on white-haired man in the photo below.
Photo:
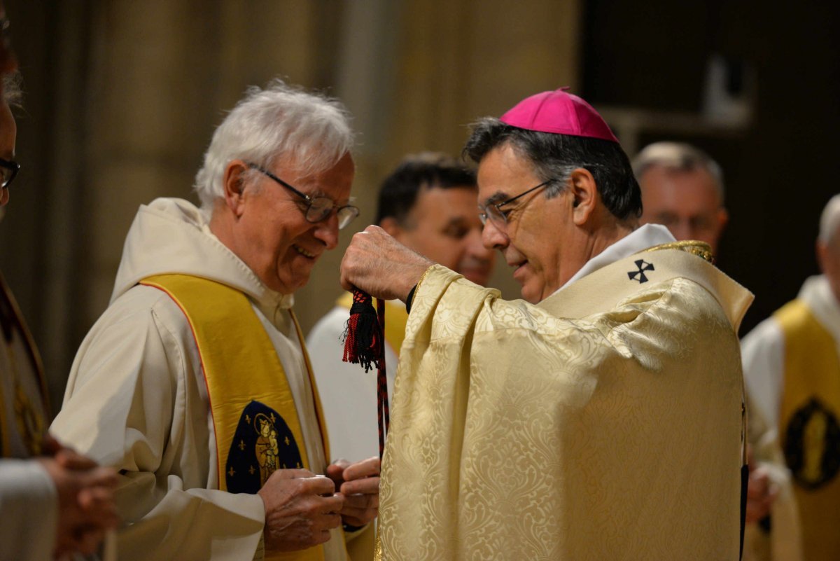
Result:
{"type": "MultiPolygon", "coordinates": [[[[265,482],[275,469],[284,467],[312,469],[308,465],[306,441],[291,388],[286,380],[286,371],[248,298],[234,288],[192,275],[155,275],[140,281],[140,284],[168,294],[184,312],[192,328],[213,416],[219,489],[228,490],[226,476],[230,474],[233,478],[236,474],[232,457],[237,448],[243,453],[251,453],[256,449],[256,461],[250,462],[247,468],[251,481],[259,474],[260,480],[265,482]],[[255,402],[260,409],[254,409],[255,402]],[[254,414],[255,411],[259,412],[254,414]],[[279,413],[281,418],[276,419],[271,412],[279,413]],[[253,429],[250,428],[252,424],[253,429]],[[259,436],[255,438],[251,430],[259,436]],[[245,445],[244,438],[239,438],[243,431],[250,438],[249,446],[245,445]],[[292,438],[286,436],[284,441],[283,434],[286,431],[291,433],[292,438]],[[240,442],[235,443],[234,438],[240,442]],[[251,442],[253,440],[256,443],[251,442]],[[288,447],[292,443],[297,443],[301,465],[279,465],[279,447],[288,447]]],[[[291,310],[289,313],[301,343],[328,459],[329,445],[318,388],[297,318],[291,310]]],[[[315,466],[314,471],[318,473],[321,468],[315,466]]],[[[323,547],[275,553],[265,558],[323,561],[323,547]]]]}

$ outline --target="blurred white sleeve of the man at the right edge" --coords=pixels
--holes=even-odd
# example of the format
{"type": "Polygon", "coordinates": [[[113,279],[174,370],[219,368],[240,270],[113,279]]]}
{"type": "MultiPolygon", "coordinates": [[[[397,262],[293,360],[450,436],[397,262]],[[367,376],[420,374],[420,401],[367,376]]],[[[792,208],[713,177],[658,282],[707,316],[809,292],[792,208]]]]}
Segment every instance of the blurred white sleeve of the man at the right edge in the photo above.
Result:
{"type": "Polygon", "coordinates": [[[753,404],[769,427],[779,425],[779,406],[785,375],[785,338],[771,317],[759,323],[741,341],[743,377],[753,404]]]}

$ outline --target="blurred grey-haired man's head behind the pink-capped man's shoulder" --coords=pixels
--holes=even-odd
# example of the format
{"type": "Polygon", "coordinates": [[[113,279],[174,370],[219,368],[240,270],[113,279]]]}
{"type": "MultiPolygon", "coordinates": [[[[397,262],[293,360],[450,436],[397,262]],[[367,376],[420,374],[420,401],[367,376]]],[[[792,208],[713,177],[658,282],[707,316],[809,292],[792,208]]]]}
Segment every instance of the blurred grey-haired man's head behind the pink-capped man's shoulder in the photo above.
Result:
{"type": "Polygon", "coordinates": [[[690,144],[657,142],[633,159],[633,173],[642,187],[643,224],[662,224],[676,239],[706,242],[717,255],[729,215],[715,160],[690,144]]]}

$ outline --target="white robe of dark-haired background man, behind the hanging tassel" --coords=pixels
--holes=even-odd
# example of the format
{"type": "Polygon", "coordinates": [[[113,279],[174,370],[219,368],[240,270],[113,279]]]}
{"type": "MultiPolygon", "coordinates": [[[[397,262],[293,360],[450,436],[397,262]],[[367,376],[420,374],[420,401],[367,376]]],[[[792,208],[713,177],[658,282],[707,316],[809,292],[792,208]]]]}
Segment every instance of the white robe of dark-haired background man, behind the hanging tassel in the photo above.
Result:
{"type": "MultiPolygon", "coordinates": [[[[349,311],[335,307],[312,328],[307,349],[327,419],[332,458],[357,462],[379,455],[376,371],[342,360],[344,324],[349,311]]],[[[389,394],[393,396],[396,354],[386,346],[389,394]]]]}

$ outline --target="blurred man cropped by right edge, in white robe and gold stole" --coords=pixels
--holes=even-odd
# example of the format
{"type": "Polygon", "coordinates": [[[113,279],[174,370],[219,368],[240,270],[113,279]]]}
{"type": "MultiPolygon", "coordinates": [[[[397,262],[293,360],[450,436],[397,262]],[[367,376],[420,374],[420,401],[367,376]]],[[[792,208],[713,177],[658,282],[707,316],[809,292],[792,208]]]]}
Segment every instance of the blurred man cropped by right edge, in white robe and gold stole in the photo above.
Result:
{"type": "Polygon", "coordinates": [[[743,372],[779,434],[804,558],[827,561],[840,558],[840,195],[822,212],[816,260],[822,275],[743,338],[743,372]]]}

